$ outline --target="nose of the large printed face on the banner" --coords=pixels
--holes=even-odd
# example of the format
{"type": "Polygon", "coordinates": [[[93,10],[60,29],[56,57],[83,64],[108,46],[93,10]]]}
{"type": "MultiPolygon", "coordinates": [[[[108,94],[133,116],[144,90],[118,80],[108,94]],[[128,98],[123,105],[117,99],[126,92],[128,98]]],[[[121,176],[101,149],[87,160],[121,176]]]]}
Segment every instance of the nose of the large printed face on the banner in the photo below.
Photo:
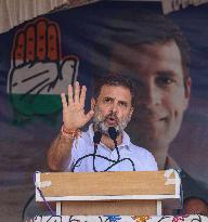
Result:
{"type": "Polygon", "coordinates": [[[139,104],[146,106],[159,105],[161,103],[162,92],[155,83],[148,83],[143,87],[139,93],[139,104]]]}

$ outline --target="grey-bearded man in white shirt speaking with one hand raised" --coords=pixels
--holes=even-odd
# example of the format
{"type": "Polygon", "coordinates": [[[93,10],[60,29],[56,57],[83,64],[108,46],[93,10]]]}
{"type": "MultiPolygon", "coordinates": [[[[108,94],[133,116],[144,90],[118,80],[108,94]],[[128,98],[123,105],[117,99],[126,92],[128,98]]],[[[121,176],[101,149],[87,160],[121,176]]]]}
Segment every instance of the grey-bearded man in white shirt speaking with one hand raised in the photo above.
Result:
{"type": "MultiPolygon", "coordinates": [[[[157,164],[145,148],[133,145],[123,131],[131,119],[135,88],[123,76],[107,76],[95,82],[91,110],[84,113],[87,88],[76,82],[62,93],[63,127],[48,152],[54,171],[154,171],[157,164]],[[90,119],[87,132],[79,129],[90,119]]],[[[136,132],[135,132],[136,133],[136,132]]]]}

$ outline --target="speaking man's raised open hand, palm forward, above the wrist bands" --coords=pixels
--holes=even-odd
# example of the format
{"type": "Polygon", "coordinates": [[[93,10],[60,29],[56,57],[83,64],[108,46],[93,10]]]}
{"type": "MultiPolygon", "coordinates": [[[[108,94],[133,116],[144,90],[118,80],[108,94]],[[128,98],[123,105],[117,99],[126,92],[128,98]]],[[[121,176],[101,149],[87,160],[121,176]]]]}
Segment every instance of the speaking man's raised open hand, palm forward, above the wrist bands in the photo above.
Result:
{"type": "Polygon", "coordinates": [[[72,84],[68,86],[68,101],[65,93],[61,94],[63,122],[67,130],[77,130],[83,127],[94,115],[92,109],[88,114],[84,113],[86,92],[86,86],[80,88],[79,82],[76,81],[74,92],[72,84]]]}

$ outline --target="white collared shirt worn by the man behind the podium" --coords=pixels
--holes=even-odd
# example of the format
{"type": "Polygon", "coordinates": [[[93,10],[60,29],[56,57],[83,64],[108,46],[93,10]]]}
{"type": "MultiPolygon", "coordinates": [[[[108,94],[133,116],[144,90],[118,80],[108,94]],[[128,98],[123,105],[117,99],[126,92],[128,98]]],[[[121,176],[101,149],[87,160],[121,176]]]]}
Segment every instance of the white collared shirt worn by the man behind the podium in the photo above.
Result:
{"type": "Polygon", "coordinates": [[[74,172],[157,170],[153,155],[145,148],[133,145],[125,131],[118,149],[109,149],[100,143],[95,152],[93,135],[93,127],[90,125],[89,130],[74,141],[72,160],[67,170],[74,172]]]}

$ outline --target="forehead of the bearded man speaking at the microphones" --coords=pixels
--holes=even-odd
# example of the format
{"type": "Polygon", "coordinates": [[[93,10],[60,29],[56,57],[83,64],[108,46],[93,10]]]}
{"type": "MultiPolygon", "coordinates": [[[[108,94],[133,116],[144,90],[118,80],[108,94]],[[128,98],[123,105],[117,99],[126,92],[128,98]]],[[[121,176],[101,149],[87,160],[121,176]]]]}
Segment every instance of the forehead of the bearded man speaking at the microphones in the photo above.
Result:
{"type": "Polygon", "coordinates": [[[119,101],[131,101],[131,92],[128,88],[122,86],[104,84],[101,88],[99,99],[113,97],[119,101]]]}

